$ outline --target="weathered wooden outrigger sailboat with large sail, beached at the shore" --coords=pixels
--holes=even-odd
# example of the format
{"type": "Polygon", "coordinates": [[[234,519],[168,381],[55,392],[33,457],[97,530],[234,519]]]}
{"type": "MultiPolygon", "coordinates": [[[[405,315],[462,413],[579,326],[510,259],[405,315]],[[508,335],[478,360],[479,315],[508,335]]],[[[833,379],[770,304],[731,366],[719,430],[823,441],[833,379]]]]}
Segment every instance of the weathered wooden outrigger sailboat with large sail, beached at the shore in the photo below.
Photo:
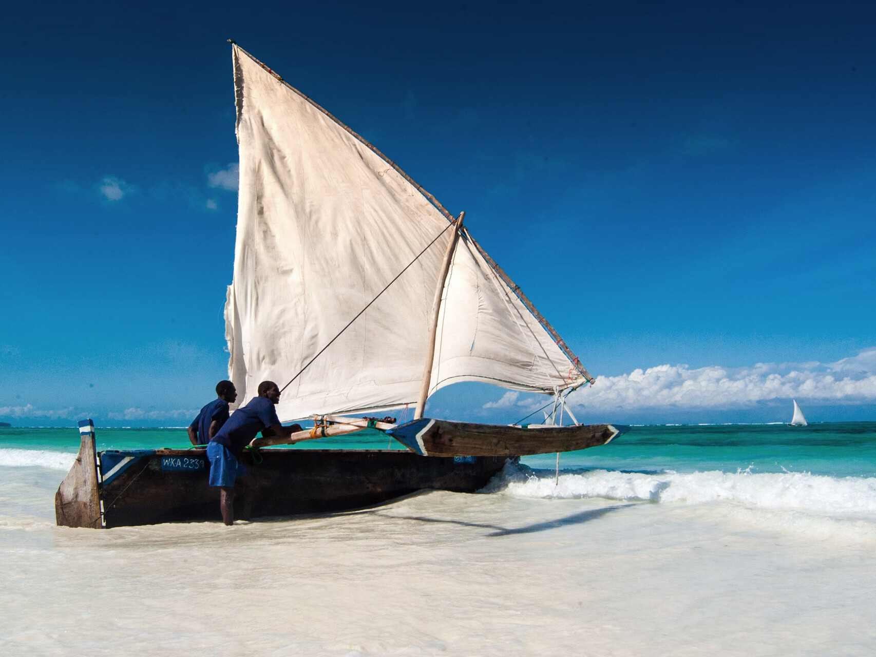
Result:
{"type": "MultiPolygon", "coordinates": [[[[252,442],[254,516],[351,508],[420,488],[475,491],[507,457],[584,449],[625,430],[560,426],[564,410],[574,420],[566,396],[594,379],[477,244],[464,213],[451,215],[236,44],[232,57],[240,188],[225,305],[230,379],[241,404],[261,381],[285,384],[279,419],[314,420],[300,434],[252,442]],[[548,394],[554,410],[538,427],[424,418],[428,396],[460,381],[548,394]],[[399,426],[350,417],[408,406],[414,420],[399,426]],[[409,451],[269,449],[367,427],[409,451]]],[[[59,524],[218,515],[201,450],[95,454],[94,428],[85,429],[56,498],[59,524]]]]}

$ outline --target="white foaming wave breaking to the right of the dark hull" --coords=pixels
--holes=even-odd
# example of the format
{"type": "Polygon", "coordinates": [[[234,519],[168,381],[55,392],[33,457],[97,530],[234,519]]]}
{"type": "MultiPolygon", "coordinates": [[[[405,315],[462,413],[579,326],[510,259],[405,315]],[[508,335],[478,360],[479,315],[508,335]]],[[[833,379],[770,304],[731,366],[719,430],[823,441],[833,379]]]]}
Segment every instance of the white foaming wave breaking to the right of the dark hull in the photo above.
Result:
{"type": "Polygon", "coordinates": [[[560,473],[505,466],[484,488],[520,498],[609,498],[699,504],[730,501],[759,509],[876,513],[876,477],[822,477],[801,472],[672,472],[611,470],[560,473]]]}

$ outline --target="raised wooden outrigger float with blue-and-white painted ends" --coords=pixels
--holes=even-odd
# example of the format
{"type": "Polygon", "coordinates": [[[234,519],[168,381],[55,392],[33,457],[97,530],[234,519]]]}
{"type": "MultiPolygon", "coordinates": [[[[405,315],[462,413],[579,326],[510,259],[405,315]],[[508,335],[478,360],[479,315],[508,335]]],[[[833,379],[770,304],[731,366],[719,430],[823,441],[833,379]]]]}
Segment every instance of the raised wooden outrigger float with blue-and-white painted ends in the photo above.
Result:
{"type": "Polygon", "coordinates": [[[525,456],[597,447],[629,428],[611,424],[515,427],[423,418],[386,433],[421,456],[525,456]]]}

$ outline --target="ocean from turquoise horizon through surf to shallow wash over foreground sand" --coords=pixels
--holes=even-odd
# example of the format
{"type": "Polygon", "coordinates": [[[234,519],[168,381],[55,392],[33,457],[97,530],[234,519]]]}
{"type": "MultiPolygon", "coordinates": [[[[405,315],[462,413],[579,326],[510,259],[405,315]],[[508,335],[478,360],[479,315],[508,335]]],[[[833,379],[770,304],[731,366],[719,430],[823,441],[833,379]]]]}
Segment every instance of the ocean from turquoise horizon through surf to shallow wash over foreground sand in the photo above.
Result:
{"type": "MultiPolygon", "coordinates": [[[[390,445],[352,438],[294,449],[390,445]]],[[[472,495],[109,531],[54,526],[78,443],[0,428],[0,653],[876,653],[876,423],[632,427],[472,495]]]]}

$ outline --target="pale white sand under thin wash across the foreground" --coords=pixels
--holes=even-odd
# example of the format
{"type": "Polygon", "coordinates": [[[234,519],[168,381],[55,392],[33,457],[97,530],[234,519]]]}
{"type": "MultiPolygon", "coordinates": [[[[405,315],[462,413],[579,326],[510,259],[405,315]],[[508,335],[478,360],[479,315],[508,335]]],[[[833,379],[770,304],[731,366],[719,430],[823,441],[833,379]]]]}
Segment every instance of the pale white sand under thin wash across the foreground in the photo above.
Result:
{"type": "Polygon", "coordinates": [[[426,492],[316,518],[95,531],[54,526],[60,470],[3,470],[6,654],[876,649],[865,521],[426,492]]]}

